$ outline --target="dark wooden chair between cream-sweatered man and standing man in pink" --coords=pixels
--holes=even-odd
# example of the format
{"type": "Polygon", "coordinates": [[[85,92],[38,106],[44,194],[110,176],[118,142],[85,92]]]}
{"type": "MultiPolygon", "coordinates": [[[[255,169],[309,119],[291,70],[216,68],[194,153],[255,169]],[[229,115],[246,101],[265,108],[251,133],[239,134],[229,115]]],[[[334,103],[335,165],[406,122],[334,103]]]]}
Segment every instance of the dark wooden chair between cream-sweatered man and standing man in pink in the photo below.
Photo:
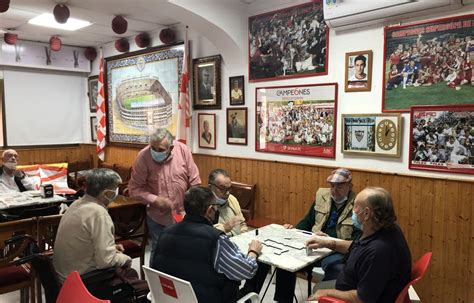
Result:
{"type": "Polygon", "coordinates": [[[119,204],[109,207],[115,226],[115,243],[122,244],[124,253],[131,258],[140,258],[140,277],[144,279],[145,247],[148,239],[146,206],[143,204],[119,204]]]}

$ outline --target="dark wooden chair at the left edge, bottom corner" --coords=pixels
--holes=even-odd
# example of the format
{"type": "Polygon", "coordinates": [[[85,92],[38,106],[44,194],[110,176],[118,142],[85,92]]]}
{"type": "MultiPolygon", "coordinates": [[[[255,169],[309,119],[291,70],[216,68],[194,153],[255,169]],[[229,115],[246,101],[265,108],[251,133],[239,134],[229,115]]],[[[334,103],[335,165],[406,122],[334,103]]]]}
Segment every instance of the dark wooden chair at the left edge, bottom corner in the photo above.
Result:
{"type": "Polygon", "coordinates": [[[14,259],[23,255],[25,241],[20,245],[4,245],[4,242],[17,235],[34,235],[35,230],[33,218],[0,223],[0,294],[21,290],[21,302],[35,302],[35,274],[29,266],[14,263],[14,259]]]}

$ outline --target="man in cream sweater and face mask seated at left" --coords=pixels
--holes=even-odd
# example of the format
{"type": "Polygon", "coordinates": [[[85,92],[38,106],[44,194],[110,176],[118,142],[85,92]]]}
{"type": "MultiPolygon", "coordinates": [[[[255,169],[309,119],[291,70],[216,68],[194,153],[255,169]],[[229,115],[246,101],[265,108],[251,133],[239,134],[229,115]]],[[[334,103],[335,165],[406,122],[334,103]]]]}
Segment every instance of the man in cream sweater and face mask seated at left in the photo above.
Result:
{"type": "MultiPolygon", "coordinates": [[[[116,275],[125,277],[130,284],[146,285],[130,267],[132,260],[122,253],[123,246],[115,244],[114,224],[107,206],[117,197],[121,182],[120,176],[110,169],[87,172],[85,195],[67,209],[56,234],[53,264],[61,282],[73,271],[82,275],[116,267],[116,275]]],[[[116,285],[114,280],[104,287],[116,285]]]]}

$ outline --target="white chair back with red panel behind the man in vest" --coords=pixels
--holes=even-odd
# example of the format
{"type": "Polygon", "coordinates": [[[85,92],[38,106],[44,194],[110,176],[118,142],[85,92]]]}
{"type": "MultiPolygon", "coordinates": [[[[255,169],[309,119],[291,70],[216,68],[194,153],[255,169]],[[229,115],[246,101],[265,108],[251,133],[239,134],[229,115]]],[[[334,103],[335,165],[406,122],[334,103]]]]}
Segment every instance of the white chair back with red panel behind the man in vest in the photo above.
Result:
{"type": "Polygon", "coordinates": [[[152,302],[155,303],[198,303],[190,282],[143,266],[146,281],[150,287],[152,302]]]}

